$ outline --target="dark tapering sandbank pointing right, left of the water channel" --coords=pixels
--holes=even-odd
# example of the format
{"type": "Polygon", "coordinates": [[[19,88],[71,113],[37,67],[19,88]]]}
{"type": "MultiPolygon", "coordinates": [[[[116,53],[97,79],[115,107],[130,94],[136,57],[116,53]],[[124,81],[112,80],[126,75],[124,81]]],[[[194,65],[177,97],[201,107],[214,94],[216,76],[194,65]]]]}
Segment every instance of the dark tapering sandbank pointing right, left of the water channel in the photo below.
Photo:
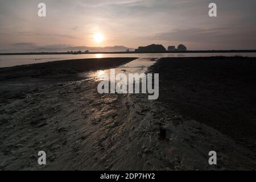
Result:
{"type": "Polygon", "coordinates": [[[81,80],[85,76],[80,73],[114,68],[134,59],[136,58],[76,59],[0,68],[0,92],[22,91],[61,81],[81,80]]]}

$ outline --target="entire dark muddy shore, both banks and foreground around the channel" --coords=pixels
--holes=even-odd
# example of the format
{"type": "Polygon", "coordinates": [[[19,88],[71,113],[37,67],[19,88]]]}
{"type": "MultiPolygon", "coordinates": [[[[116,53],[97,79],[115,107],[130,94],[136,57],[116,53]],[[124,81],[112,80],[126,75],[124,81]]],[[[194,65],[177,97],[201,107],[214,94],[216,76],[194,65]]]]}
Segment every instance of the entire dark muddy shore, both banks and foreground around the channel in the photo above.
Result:
{"type": "Polygon", "coordinates": [[[155,101],[99,94],[101,79],[88,78],[135,59],[0,68],[0,169],[255,169],[255,58],[154,60],[147,72],[159,73],[155,101]],[[216,166],[208,163],[213,150],[216,166]]]}

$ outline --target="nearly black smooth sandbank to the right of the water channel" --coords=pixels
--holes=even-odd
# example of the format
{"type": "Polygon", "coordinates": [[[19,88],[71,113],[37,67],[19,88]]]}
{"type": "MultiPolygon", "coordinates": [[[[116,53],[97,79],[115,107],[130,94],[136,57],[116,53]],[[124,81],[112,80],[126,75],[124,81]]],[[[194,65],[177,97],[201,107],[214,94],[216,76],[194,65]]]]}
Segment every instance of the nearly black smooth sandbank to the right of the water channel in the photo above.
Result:
{"type": "Polygon", "coordinates": [[[256,58],[163,58],[152,71],[160,101],[256,152],[256,58]]]}

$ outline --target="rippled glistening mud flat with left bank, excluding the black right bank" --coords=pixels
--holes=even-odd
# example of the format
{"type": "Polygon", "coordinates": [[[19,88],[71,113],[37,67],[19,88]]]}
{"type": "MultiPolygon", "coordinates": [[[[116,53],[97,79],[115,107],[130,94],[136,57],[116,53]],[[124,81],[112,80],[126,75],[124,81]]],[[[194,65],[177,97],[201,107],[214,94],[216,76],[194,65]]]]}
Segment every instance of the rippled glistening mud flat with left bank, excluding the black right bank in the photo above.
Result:
{"type": "Polygon", "coordinates": [[[56,61],[35,64],[32,69],[0,69],[0,169],[255,168],[250,147],[164,101],[172,93],[168,86],[175,85],[166,82],[170,69],[162,67],[163,60],[149,70],[160,74],[162,98],[157,101],[147,100],[145,94],[97,92],[101,75],[95,77],[94,72],[127,69],[122,65],[132,60],[56,61]],[[47,154],[46,166],[38,165],[37,154],[42,150],[47,154]],[[208,163],[212,150],[217,152],[217,166],[208,163]]]}

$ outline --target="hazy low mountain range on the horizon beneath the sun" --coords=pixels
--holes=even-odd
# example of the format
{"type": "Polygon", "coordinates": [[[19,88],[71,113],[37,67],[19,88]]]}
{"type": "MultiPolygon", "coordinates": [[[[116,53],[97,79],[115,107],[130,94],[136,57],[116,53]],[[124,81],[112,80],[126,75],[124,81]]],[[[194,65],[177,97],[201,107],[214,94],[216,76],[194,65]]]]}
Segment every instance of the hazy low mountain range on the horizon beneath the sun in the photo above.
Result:
{"type": "Polygon", "coordinates": [[[134,51],[134,48],[129,48],[125,46],[113,46],[113,47],[87,47],[87,46],[43,46],[43,47],[33,47],[33,48],[11,48],[2,49],[0,53],[16,53],[16,52],[68,52],[68,51],[89,51],[89,52],[126,52],[126,50],[134,51]]]}

